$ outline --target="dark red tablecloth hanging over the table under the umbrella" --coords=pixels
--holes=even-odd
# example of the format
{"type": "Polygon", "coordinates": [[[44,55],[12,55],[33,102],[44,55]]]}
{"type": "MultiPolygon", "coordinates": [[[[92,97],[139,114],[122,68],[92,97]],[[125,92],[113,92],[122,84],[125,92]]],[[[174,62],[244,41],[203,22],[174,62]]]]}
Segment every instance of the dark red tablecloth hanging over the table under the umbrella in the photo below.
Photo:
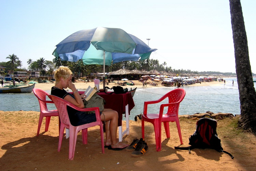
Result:
{"type": "Polygon", "coordinates": [[[125,114],[125,106],[129,104],[129,115],[131,109],[135,106],[134,101],[132,99],[131,93],[123,93],[123,94],[106,94],[104,92],[98,92],[99,96],[105,99],[106,104],[104,108],[111,108],[116,110],[118,113],[118,126],[122,125],[123,114],[125,114]]]}

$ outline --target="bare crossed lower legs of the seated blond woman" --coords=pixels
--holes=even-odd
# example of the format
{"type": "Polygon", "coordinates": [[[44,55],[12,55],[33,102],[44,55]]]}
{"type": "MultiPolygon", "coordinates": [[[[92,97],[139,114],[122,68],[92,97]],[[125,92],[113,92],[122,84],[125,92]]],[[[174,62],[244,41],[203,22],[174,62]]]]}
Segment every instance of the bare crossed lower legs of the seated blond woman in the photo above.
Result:
{"type": "Polygon", "coordinates": [[[112,148],[124,148],[129,144],[118,143],[116,138],[117,126],[118,126],[118,113],[112,109],[104,109],[101,114],[101,121],[105,119],[105,133],[106,142],[105,146],[110,146],[112,148]],[[104,114],[104,115],[103,115],[104,114]],[[104,118],[105,116],[105,118],[104,118]]]}

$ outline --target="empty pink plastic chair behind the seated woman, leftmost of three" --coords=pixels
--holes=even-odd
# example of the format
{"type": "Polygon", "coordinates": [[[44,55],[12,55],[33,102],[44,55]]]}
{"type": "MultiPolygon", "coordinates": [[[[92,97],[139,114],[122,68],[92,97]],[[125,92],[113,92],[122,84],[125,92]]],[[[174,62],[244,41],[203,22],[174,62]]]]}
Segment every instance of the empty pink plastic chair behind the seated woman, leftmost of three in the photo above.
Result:
{"type": "MultiPolygon", "coordinates": [[[[39,88],[33,89],[35,97],[38,98],[39,105],[40,105],[40,116],[39,116],[39,122],[38,122],[38,129],[37,129],[37,136],[39,135],[40,128],[42,125],[43,118],[45,117],[45,129],[44,131],[47,132],[49,128],[49,123],[51,120],[51,116],[59,116],[57,110],[48,110],[46,103],[53,103],[51,100],[46,100],[46,96],[49,94],[45,92],[44,90],[41,90],[39,88]]],[[[60,124],[59,124],[60,128],[60,124]]]]}

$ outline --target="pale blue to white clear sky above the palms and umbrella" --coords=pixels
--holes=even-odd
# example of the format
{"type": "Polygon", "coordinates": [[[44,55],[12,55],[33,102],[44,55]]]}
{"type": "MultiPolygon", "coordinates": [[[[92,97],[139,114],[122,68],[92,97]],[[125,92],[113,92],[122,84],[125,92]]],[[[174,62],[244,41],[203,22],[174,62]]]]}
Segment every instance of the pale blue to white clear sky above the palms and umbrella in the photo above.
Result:
{"type": "MultiPolygon", "coordinates": [[[[256,73],[256,1],[241,4],[256,73]]],[[[61,40],[96,27],[137,36],[158,49],[150,58],[175,69],[236,72],[228,0],[0,0],[0,62],[13,53],[22,68],[29,58],[52,61],[61,40]]]]}

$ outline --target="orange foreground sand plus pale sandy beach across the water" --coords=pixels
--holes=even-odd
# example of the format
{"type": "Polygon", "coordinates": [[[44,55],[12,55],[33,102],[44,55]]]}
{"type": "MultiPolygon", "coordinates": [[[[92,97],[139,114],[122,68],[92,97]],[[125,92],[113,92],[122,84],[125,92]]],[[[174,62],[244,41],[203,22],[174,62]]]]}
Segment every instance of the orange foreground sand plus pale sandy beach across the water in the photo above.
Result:
{"type": "MultiPolygon", "coordinates": [[[[142,83],[133,81],[135,86],[142,87],[142,83]]],[[[85,89],[93,82],[75,82],[77,89],[85,89]]],[[[203,82],[189,86],[219,85],[223,82],[203,82]]],[[[109,87],[114,86],[110,83],[109,87]]],[[[39,83],[36,88],[49,91],[53,83],[39,83]]],[[[153,87],[147,85],[146,88],[153,87]]],[[[159,83],[158,87],[162,87],[159,83]]],[[[185,86],[184,86],[185,87],[185,86]]],[[[103,88],[103,84],[100,84],[103,88]]],[[[88,143],[82,143],[82,135],[78,134],[74,160],[68,160],[69,139],[62,140],[61,151],[58,148],[58,119],[52,117],[49,131],[44,132],[45,119],[43,120],[40,135],[37,137],[39,112],[35,111],[0,111],[0,165],[3,171],[23,170],[207,170],[207,171],[254,171],[256,170],[256,138],[250,133],[237,136],[237,130],[230,126],[236,117],[218,120],[217,133],[222,142],[222,147],[234,156],[231,159],[225,153],[211,149],[194,149],[191,154],[184,150],[175,150],[174,146],[180,145],[179,135],[175,123],[170,123],[171,138],[167,139],[162,126],[162,150],[156,151],[155,133],[153,125],[145,124],[145,141],[149,151],[141,157],[132,157],[126,150],[112,151],[105,149],[102,154],[100,146],[99,126],[88,129],[88,143]],[[242,135],[242,136],[241,136],[242,135]]],[[[181,132],[184,145],[189,146],[188,137],[195,131],[194,119],[181,118],[181,132]]],[[[126,122],[123,121],[123,125],[126,122]]],[[[134,137],[141,137],[141,121],[129,121],[130,134],[126,135],[123,143],[131,143],[134,137]]],[[[123,128],[124,129],[124,128],[123,128]]]]}

